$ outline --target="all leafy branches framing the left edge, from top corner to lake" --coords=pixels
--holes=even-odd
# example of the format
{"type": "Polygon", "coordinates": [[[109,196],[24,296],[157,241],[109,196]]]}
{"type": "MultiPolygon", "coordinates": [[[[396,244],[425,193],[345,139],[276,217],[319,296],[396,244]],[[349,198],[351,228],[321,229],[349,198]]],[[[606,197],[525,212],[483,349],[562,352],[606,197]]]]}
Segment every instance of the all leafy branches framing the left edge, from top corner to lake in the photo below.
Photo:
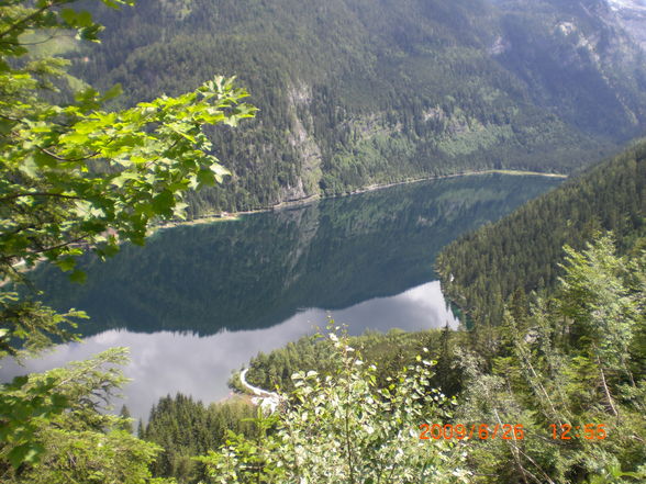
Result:
{"type": "MultiPolygon", "coordinates": [[[[38,320],[40,309],[8,291],[8,282],[26,282],[23,268],[42,259],[82,281],[85,274],[75,267],[83,248],[109,257],[122,241],[143,244],[155,220],[182,217],[189,190],[230,175],[213,156],[203,126],[233,126],[255,112],[241,102],[247,92],[223,77],[193,92],[113,112],[101,105],[119,93],[119,86],[104,95],[90,88],[74,95],[60,92],[56,86],[66,79],[69,63],[35,58],[21,38],[34,31],[73,30],[79,38],[98,42],[100,25],[88,12],[67,8],[70,3],[74,0],[0,5],[3,352],[11,340],[42,346],[49,335],[69,337],[56,329],[58,324],[24,331],[25,324],[19,320],[38,320]],[[48,102],[52,98],[70,101],[56,104],[48,102]]],[[[65,322],[63,316],[57,323],[65,322]]]]}

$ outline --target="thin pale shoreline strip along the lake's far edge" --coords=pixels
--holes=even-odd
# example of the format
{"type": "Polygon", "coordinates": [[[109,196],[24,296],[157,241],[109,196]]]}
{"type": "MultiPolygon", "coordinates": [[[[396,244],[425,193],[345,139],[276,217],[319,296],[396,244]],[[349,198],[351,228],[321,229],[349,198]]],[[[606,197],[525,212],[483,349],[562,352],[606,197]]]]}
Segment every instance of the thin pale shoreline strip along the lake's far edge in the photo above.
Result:
{"type": "Polygon", "coordinates": [[[569,177],[568,175],[563,175],[563,173],[544,173],[541,171],[502,170],[502,169],[500,169],[500,170],[482,170],[482,171],[465,171],[461,173],[453,173],[453,175],[439,175],[439,176],[433,176],[433,177],[424,177],[424,178],[415,178],[415,179],[410,179],[410,180],[396,181],[392,183],[375,183],[375,184],[367,185],[363,189],[354,190],[352,192],[341,193],[337,195],[325,196],[325,195],[321,195],[321,194],[314,194],[314,195],[305,196],[303,199],[288,200],[285,202],[280,202],[280,203],[277,203],[276,205],[271,205],[271,206],[265,207],[265,209],[254,209],[254,210],[242,211],[242,212],[232,212],[232,213],[222,212],[221,214],[202,215],[200,217],[193,218],[192,221],[167,222],[163,225],[157,225],[157,226],[153,227],[152,233],[155,233],[158,229],[174,228],[174,227],[180,227],[180,226],[185,226],[185,225],[189,226],[189,225],[212,224],[212,223],[216,223],[216,222],[235,222],[235,221],[240,221],[241,217],[244,215],[274,212],[274,211],[279,211],[279,210],[283,210],[283,209],[291,209],[294,206],[305,206],[305,205],[309,205],[310,203],[314,203],[314,202],[318,202],[321,200],[331,200],[331,199],[339,199],[343,196],[358,195],[360,193],[374,192],[377,190],[383,190],[383,189],[398,187],[398,185],[402,185],[402,184],[412,184],[412,183],[421,183],[423,181],[446,180],[446,179],[450,179],[450,178],[475,177],[475,176],[479,176],[479,175],[494,175],[494,173],[509,175],[509,176],[514,176],[514,177],[546,177],[546,178],[560,178],[560,179],[567,179],[569,177]]]}

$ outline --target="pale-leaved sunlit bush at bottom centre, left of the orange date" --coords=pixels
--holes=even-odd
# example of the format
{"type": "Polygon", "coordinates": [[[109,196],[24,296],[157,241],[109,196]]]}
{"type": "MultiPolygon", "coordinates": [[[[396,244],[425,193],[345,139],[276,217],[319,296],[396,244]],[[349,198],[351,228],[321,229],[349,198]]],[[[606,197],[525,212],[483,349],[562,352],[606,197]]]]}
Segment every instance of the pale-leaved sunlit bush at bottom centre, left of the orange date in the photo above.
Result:
{"type": "Polygon", "coordinates": [[[345,336],[324,344],[331,374],[292,375],[270,417],[257,420],[255,438],[232,435],[219,452],[201,458],[213,483],[469,482],[461,449],[421,440],[419,425],[448,415],[450,402],[430,386],[433,362],[417,357],[388,385],[377,384],[345,336]]]}

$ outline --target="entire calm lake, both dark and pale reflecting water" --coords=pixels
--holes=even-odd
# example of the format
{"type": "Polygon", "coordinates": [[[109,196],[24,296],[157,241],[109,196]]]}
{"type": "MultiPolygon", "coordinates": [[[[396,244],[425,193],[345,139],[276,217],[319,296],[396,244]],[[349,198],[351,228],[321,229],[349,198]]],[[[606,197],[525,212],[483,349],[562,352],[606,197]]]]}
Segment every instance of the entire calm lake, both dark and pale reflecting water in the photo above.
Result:
{"type": "Polygon", "coordinates": [[[0,378],[125,346],[133,379],[125,402],[146,418],[167,394],[226,397],[233,370],[324,327],[328,316],[352,334],[456,328],[433,272],[436,254],[559,182],[502,175],[436,180],[164,229],[109,262],[85,260],[83,285],[42,268],[35,279],[46,302],[83,309],[91,322],[81,325],[82,342],[60,345],[25,368],[4,361],[0,378]]]}

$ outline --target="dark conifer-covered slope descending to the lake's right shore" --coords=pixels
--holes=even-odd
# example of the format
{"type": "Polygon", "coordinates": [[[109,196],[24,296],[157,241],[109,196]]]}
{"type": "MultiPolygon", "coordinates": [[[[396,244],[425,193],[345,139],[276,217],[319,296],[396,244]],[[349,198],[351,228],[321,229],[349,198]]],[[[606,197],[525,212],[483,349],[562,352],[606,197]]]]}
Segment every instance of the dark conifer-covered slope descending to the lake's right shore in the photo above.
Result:
{"type": "Polygon", "coordinates": [[[568,180],[437,257],[443,290],[478,323],[500,324],[503,304],[553,288],[563,246],[581,249],[613,230],[620,251],[637,250],[646,229],[646,143],[568,180]]]}

